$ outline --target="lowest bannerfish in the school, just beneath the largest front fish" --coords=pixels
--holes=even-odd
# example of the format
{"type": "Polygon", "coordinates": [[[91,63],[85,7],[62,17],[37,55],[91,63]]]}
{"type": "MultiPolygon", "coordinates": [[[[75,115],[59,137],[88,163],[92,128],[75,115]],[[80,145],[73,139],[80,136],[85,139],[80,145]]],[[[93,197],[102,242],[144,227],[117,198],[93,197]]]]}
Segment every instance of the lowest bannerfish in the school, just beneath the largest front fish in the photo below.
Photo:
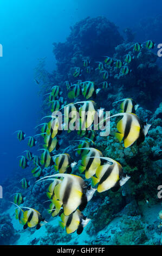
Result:
{"type": "Polygon", "coordinates": [[[83,228],[86,227],[90,219],[82,214],[80,210],[76,210],[73,214],[66,216],[63,213],[61,214],[60,227],[66,227],[67,234],[72,234],[76,231],[80,235],[83,231],[83,228]]]}

